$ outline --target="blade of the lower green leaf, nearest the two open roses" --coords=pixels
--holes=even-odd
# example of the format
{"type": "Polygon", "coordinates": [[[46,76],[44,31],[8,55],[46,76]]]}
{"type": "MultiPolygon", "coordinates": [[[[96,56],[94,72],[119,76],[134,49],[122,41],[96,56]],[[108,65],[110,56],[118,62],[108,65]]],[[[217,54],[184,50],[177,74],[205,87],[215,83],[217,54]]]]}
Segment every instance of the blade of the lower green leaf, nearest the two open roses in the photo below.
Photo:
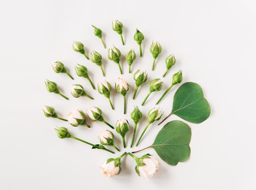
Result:
{"type": "Polygon", "coordinates": [[[162,160],[175,166],[189,158],[190,140],[191,128],[184,122],[175,120],[164,125],[150,147],[155,149],[162,160]]]}

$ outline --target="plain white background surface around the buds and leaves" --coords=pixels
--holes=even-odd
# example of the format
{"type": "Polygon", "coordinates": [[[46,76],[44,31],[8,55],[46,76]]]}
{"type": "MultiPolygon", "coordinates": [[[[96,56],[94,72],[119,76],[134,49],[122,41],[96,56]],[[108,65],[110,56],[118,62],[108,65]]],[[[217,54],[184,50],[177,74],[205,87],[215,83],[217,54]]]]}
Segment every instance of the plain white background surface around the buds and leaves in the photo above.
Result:
{"type": "MultiPolygon", "coordinates": [[[[255,8],[254,0],[173,0],[168,4],[162,0],[1,1],[0,189],[255,189],[255,8]],[[119,35],[112,31],[114,19],[124,24],[124,46],[119,35]],[[107,47],[114,44],[120,49],[124,75],[108,60],[107,49],[94,36],[91,24],[102,29],[107,47]],[[143,57],[139,57],[138,45],[133,40],[136,28],[145,36],[143,57]],[[92,50],[101,53],[106,77],[102,77],[96,64],[72,50],[73,40],[85,45],[87,55],[92,50]],[[153,57],[149,52],[152,40],[159,40],[163,49],[154,71],[151,71],[153,57]],[[130,48],[137,53],[131,74],[124,58],[130,48]],[[171,53],[177,62],[163,78],[164,60],[171,53]],[[51,64],[57,60],[65,64],[74,81],[63,73],[54,73],[51,64]],[[95,86],[106,79],[114,87],[117,77],[126,78],[130,84],[126,115],[122,113],[121,95],[113,88],[110,98],[115,110],[111,110],[107,99],[92,90],[85,78],[76,75],[76,63],[88,67],[95,86]],[[137,69],[148,72],[148,81],[140,86],[132,100],[133,73],[137,69]],[[101,162],[153,143],[163,126],[157,126],[157,122],[149,126],[138,147],[129,147],[133,130],[130,112],[134,105],[143,112],[137,131],[140,135],[147,123],[148,110],[155,106],[171,84],[172,75],[180,69],[182,83],[200,84],[211,105],[211,115],[205,122],[186,122],[192,130],[190,158],[169,166],[153,149],[147,149],[136,156],[150,153],[161,162],[159,172],[149,181],[135,173],[136,163],[128,155],[122,159],[122,172],[118,176],[104,177],[98,168],[101,162]],[[155,78],[164,81],[163,89],[152,93],[141,106],[149,82],[155,78]],[[56,82],[70,99],[47,92],[45,79],[56,82]],[[72,97],[69,92],[72,84],[83,85],[94,100],[72,97]],[[72,109],[86,112],[93,105],[103,110],[103,117],[112,125],[117,119],[128,119],[131,125],[126,135],[128,148],[122,147],[121,136],[115,130],[112,130],[115,142],[121,149],[115,155],[91,150],[74,139],[59,139],[55,126],[67,127],[72,135],[94,144],[99,143],[97,134],[110,128],[88,118],[92,128],[72,127],[67,122],[45,117],[41,109],[44,105],[53,106],[64,118],[72,109]]],[[[174,86],[160,102],[163,118],[171,112],[173,95],[180,85],[174,86]]],[[[166,122],[175,119],[179,118],[173,115],[166,122]]]]}

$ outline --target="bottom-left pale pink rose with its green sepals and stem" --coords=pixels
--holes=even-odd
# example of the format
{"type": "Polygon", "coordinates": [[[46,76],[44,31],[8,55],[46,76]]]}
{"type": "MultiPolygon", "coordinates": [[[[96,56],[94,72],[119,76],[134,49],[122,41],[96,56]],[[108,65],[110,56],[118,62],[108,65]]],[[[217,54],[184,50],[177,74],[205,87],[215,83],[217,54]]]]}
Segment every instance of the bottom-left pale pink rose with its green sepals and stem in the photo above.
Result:
{"type": "Polygon", "coordinates": [[[121,158],[126,155],[126,152],[122,154],[120,157],[114,159],[110,158],[107,161],[104,161],[99,166],[99,169],[102,171],[103,175],[106,177],[114,177],[115,175],[119,175],[121,172],[121,158]]]}

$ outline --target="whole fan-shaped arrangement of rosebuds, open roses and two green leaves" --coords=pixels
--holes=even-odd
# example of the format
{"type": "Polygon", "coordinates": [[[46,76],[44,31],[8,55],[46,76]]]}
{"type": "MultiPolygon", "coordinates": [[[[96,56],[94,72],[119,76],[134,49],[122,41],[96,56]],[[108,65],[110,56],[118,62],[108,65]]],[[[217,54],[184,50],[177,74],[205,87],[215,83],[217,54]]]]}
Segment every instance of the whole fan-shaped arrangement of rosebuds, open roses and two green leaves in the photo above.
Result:
{"type": "MultiPolygon", "coordinates": [[[[102,39],[101,29],[94,27],[93,25],[92,27],[94,29],[94,35],[100,38],[103,44],[103,47],[106,48],[105,42],[102,39]]],[[[120,35],[121,42],[124,45],[124,39],[122,35],[123,24],[118,20],[113,20],[112,29],[120,35]]],[[[138,29],[136,29],[135,31],[134,40],[139,45],[139,55],[140,57],[142,57],[141,44],[144,40],[144,35],[138,29]]],[[[101,62],[102,55],[100,53],[98,53],[97,51],[92,51],[90,53],[90,58],[89,58],[85,53],[84,45],[81,42],[74,41],[72,43],[72,47],[75,52],[79,52],[83,54],[86,59],[88,60],[90,59],[91,62],[97,64],[101,69],[101,73],[103,77],[105,77],[105,72],[103,70],[102,62],[101,62]]],[[[153,41],[149,48],[149,51],[150,53],[152,53],[152,56],[153,56],[153,64],[152,64],[152,71],[153,71],[155,68],[155,61],[158,55],[162,52],[162,46],[160,45],[159,42],[153,41]]],[[[121,51],[117,49],[114,45],[112,45],[108,49],[108,59],[111,61],[114,61],[119,68],[120,74],[123,74],[123,71],[121,69],[120,62],[119,62],[120,56],[121,56],[121,51]]],[[[130,49],[130,51],[128,51],[125,54],[125,58],[129,66],[129,73],[131,73],[131,65],[133,61],[136,60],[135,50],[130,49]]],[[[164,72],[162,77],[165,77],[169,69],[176,63],[174,54],[171,54],[168,57],[166,57],[165,63],[166,63],[166,71],[164,72]]],[[[54,72],[66,73],[72,80],[74,80],[74,78],[70,75],[70,73],[67,72],[62,62],[59,62],[59,61],[54,62],[54,64],[52,64],[52,68],[54,72]]],[[[81,64],[77,64],[75,66],[75,71],[79,77],[85,77],[90,83],[91,87],[95,89],[95,86],[88,75],[88,68],[86,68],[81,64]]],[[[142,71],[139,69],[134,73],[133,78],[135,80],[136,86],[135,86],[135,91],[132,98],[135,99],[139,86],[143,85],[147,81],[148,73],[146,73],[146,71],[142,71]]],[[[179,84],[181,82],[182,82],[182,71],[180,70],[173,75],[171,85],[166,89],[166,91],[163,93],[160,99],[156,102],[156,104],[158,104],[162,100],[162,98],[168,93],[168,91],[175,84],[179,84]]],[[[142,101],[141,106],[144,105],[147,98],[152,92],[160,91],[162,89],[162,85],[163,85],[163,82],[161,81],[161,79],[156,78],[152,80],[149,86],[149,93],[146,95],[145,99],[142,101]]],[[[56,93],[62,96],[63,98],[68,99],[65,95],[63,95],[58,90],[58,85],[55,82],[46,80],[45,86],[47,91],[56,93]]],[[[103,80],[97,84],[97,90],[100,94],[104,95],[108,99],[108,102],[112,110],[114,110],[114,106],[110,99],[110,91],[112,90],[111,84],[107,82],[107,80],[103,80]]],[[[117,93],[121,94],[124,98],[123,113],[126,114],[126,102],[127,102],[126,93],[130,90],[130,86],[126,82],[125,78],[121,78],[121,77],[117,78],[115,82],[115,90],[117,91],[117,93]]],[[[94,99],[90,95],[90,92],[87,93],[84,91],[83,86],[80,84],[72,85],[70,89],[70,93],[72,94],[73,97],[76,97],[76,98],[80,96],[86,96],[90,99],[94,99]]],[[[126,136],[126,133],[130,130],[130,124],[128,123],[127,119],[124,119],[124,118],[118,119],[114,127],[104,119],[105,113],[103,113],[100,108],[95,106],[90,106],[87,109],[86,113],[84,113],[82,110],[77,110],[77,109],[72,110],[70,113],[67,114],[67,119],[58,117],[58,115],[55,112],[55,109],[51,106],[43,106],[43,113],[45,114],[46,117],[61,119],[65,122],[68,122],[71,126],[74,126],[74,127],[84,125],[90,128],[90,126],[86,123],[86,120],[85,120],[86,117],[88,117],[92,122],[97,122],[97,121],[103,122],[104,124],[106,124],[106,126],[110,127],[108,128],[109,130],[102,130],[98,134],[98,139],[100,144],[92,144],[88,141],[84,141],[82,139],[72,136],[67,130],[67,128],[57,127],[55,128],[55,131],[57,136],[61,139],[64,139],[64,138],[76,139],[85,144],[90,145],[92,149],[95,149],[95,148],[101,149],[114,154],[115,152],[113,152],[112,150],[109,150],[105,146],[113,146],[117,151],[120,151],[119,148],[114,143],[115,138],[114,138],[114,134],[111,131],[111,130],[116,130],[116,132],[121,135],[123,146],[124,148],[126,148],[125,136],[126,136]]],[[[209,103],[204,98],[202,88],[196,83],[186,82],[177,89],[173,98],[172,111],[165,119],[167,119],[170,115],[174,114],[187,122],[201,123],[209,117],[210,113],[211,113],[211,109],[210,109],[209,103]]],[[[130,118],[134,121],[134,131],[133,131],[132,140],[130,144],[131,148],[134,145],[137,124],[139,120],[142,118],[142,115],[144,114],[139,110],[138,106],[135,106],[134,110],[130,113],[130,118]]],[[[139,136],[139,139],[137,139],[135,146],[138,146],[148,126],[155,121],[159,121],[162,115],[163,115],[163,112],[159,107],[154,107],[148,111],[148,124],[145,126],[143,132],[139,136]]],[[[174,165],[177,165],[178,162],[186,161],[189,158],[190,140],[191,140],[191,128],[186,123],[179,120],[175,120],[165,124],[164,127],[156,135],[155,141],[153,142],[153,144],[142,150],[145,150],[147,148],[153,148],[162,160],[174,166],[174,165]]],[[[139,151],[136,151],[136,152],[139,152],[139,151]]],[[[150,154],[143,155],[142,157],[136,157],[134,153],[135,152],[123,152],[120,157],[110,158],[104,161],[103,163],[100,164],[99,168],[102,171],[103,175],[105,176],[113,177],[115,175],[119,175],[119,173],[121,172],[121,159],[125,155],[130,155],[130,157],[132,157],[137,164],[135,166],[135,171],[139,176],[144,176],[146,177],[146,179],[148,179],[148,177],[153,177],[153,175],[158,171],[158,168],[160,165],[157,158],[150,154]]]]}

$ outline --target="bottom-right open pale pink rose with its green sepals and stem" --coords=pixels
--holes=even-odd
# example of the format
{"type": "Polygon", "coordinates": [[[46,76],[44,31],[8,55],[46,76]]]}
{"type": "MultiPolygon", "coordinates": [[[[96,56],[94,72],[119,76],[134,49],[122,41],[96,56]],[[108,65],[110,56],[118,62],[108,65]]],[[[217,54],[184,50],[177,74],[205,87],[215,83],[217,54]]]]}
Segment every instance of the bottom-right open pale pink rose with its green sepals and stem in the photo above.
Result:
{"type": "Polygon", "coordinates": [[[160,166],[159,161],[150,154],[143,155],[141,158],[137,158],[128,152],[128,155],[133,157],[137,162],[137,166],[135,166],[135,171],[139,176],[144,176],[147,181],[148,177],[153,177],[153,175],[158,172],[158,168],[160,166]]]}

